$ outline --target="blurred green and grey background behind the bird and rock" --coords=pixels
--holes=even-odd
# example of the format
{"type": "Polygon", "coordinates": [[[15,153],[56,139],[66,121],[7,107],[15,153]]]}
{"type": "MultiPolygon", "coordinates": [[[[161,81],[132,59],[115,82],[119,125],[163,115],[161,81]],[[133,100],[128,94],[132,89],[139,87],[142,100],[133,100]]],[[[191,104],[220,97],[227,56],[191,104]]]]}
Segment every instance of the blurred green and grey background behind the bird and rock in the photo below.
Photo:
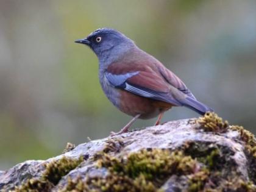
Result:
{"type": "MultiPolygon", "coordinates": [[[[74,43],[99,27],[132,38],[219,116],[256,133],[256,1],[0,0],[0,170],[130,121],[102,92],[96,55],[74,43]]],[[[197,116],[173,108],[163,121],[197,116]]]]}

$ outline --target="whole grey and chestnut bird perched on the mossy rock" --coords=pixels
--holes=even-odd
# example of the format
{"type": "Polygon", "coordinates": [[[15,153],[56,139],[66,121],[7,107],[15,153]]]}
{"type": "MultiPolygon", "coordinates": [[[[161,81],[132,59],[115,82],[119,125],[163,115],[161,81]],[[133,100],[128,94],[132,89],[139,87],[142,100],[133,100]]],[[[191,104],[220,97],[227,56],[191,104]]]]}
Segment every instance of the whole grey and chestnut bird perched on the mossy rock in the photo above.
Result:
{"type": "Polygon", "coordinates": [[[110,135],[127,132],[138,118],[158,116],[157,126],[172,107],[188,107],[200,115],[213,112],[176,74],[118,30],[97,29],[75,43],[85,44],[97,55],[102,90],[115,107],[133,116],[123,129],[110,135]]]}

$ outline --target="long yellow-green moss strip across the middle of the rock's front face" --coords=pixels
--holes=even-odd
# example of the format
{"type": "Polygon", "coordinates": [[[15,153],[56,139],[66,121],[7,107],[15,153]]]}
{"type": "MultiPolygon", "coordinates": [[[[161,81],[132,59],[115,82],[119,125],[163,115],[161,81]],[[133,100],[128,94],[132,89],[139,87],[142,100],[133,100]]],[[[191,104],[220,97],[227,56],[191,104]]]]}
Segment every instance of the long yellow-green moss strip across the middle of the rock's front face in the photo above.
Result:
{"type": "Polygon", "coordinates": [[[170,152],[168,149],[143,149],[129,154],[127,157],[115,158],[104,154],[98,161],[98,167],[105,167],[110,171],[122,172],[132,179],[141,174],[147,180],[158,178],[165,180],[172,174],[190,174],[196,167],[196,161],[183,152],[170,152]]]}

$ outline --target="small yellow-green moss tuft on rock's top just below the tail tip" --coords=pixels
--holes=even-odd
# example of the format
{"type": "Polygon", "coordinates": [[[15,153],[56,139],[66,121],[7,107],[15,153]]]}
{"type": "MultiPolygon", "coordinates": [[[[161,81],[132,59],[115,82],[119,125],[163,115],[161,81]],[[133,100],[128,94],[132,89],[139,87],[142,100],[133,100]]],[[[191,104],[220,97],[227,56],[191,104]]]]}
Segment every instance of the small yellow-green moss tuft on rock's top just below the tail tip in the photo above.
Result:
{"type": "Polygon", "coordinates": [[[223,121],[216,113],[207,112],[204,116],[196,119],[196,123],[200,125],[200,128],[204,129],[206,132],[226,132],[229,127],[227,121],[223,121]]]}

